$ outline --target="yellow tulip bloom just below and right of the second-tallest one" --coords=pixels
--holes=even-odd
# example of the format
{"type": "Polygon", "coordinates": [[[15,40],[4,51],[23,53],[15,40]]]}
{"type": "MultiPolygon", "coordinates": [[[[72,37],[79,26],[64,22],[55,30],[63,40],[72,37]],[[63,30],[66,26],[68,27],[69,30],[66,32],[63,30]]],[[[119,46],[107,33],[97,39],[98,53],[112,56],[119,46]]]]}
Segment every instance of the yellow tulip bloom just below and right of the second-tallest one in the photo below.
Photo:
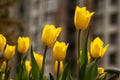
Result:
{"type": "Polygon", "coordinates": [[[55,60],[62,61],[65,59],[68,45],[69,44],[65,44],[64,42],[56,41],[53,47],[53,56],[55,60]]]}

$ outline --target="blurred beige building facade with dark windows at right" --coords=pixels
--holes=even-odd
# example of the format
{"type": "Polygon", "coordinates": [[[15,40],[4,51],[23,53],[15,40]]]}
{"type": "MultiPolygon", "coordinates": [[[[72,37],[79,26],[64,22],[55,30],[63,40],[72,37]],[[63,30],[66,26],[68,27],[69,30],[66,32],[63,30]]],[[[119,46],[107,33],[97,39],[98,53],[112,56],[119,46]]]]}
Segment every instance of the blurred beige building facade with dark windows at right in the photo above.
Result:
{"type": "Polygon", "coordinates": [[[110,44],[102,65],[120,68],[120,0],[94,0],[94,37],[110,44]]]}

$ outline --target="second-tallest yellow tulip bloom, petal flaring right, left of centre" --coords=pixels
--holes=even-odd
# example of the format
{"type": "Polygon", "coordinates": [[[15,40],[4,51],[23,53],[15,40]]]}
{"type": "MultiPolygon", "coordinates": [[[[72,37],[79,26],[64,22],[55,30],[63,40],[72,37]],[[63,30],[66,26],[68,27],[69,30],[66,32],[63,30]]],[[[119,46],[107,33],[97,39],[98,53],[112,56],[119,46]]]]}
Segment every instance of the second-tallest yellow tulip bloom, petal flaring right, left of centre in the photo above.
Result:
{"type": "Polygon", "coordinates": [[[42,42],[44,45],[50,47],[54,44],[59,36],[62,28],[56,28],[54,25],[45,25],[42,32],[42,42]]]}

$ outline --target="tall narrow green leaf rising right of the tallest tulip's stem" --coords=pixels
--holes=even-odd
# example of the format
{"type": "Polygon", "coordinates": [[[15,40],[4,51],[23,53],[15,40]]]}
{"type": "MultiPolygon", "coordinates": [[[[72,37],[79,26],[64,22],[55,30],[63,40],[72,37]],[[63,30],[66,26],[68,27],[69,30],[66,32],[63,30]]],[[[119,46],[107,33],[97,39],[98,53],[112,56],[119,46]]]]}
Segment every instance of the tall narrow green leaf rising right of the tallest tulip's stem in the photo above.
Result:
{"type": "Polygon", "coordinates": [[[88,37],[90,33],[90,28],[87,30],[87,33],[85,35],[84,45],[82,48],[82,54],[79,57],[79,79],[84,80],[85,78],[85,69],[88,62],[87,57],[87,44],[88,44],[88,37]]]}

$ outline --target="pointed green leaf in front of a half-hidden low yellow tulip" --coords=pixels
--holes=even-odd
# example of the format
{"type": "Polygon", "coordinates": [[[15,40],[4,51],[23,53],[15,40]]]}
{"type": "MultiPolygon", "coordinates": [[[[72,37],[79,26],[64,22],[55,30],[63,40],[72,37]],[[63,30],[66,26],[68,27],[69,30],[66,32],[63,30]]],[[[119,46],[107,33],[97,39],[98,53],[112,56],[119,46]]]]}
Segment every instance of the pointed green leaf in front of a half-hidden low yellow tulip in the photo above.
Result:
{"type": "Polygon", "coordinates": [[[31,66],[32,66],[32,79],[40,80],[40,70],[39,70],[39,66],[34,58],[32,46],[31,46],[31,66]]]}

